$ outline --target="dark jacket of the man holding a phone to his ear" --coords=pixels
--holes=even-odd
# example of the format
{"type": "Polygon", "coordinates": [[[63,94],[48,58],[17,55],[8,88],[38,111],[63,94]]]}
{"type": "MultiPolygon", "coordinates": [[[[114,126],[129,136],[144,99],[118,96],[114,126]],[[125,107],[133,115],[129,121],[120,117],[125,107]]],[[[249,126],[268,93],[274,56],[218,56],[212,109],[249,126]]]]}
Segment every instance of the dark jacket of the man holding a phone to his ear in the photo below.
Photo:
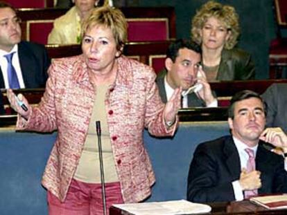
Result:
{"type": "MultiPolygon", "coordinates": [[[[159,88],[159,95],[162,97],[162,102],[166,103],[166,88],[164,87],[164,77],[166,76],[166,70],[160,72],[157,75],[157,87],[159,88]]],[[[187,95],[187,102],[189,107],[203,107],[206,106],[205,101],[198,98],[195,93],[190,93],[187,95]]]]}

